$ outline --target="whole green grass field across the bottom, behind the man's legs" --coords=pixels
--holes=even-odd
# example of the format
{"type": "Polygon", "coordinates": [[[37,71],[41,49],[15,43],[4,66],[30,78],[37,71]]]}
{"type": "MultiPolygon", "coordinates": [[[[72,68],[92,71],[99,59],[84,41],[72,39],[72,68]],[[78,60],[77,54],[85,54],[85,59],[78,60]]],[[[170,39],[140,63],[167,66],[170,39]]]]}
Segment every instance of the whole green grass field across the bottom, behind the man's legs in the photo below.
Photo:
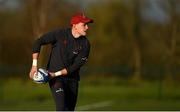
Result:
{"type": "MultiPolygon", "coordinates": [[[[180,110],[180,86],[117,79],[80,82],[76,110],[180,110]]],[[[47,84],[8,79],[0,83],[0,110],[55,110],[47,84]]]]}

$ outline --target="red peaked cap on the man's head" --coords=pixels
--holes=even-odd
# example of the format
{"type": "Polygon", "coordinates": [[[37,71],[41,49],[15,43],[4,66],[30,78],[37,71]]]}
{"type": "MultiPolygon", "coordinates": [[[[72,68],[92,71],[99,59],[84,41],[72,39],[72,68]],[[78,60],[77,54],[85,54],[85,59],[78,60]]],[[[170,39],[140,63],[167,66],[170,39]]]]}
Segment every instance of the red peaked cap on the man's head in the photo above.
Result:
{"type": "Polygon", "coordinates": [[[93,23],[93,19],[86,17],[82,13],[78,13],[71,18],[71,25],[78,23],[93,23]]]}

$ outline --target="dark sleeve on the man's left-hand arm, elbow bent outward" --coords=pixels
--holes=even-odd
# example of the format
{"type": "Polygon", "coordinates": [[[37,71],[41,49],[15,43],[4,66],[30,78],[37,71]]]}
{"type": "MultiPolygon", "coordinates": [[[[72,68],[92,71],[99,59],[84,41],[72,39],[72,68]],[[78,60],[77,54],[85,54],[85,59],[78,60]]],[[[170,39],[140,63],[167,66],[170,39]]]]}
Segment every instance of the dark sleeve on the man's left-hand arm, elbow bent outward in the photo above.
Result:
{"type": "Polygon", "coordinates": [[[56,31],[48,32],[35,40],[32,49],[33,53],[40,52],[42,45],[55,43],[57,41],[55,33],[56,31]]]}

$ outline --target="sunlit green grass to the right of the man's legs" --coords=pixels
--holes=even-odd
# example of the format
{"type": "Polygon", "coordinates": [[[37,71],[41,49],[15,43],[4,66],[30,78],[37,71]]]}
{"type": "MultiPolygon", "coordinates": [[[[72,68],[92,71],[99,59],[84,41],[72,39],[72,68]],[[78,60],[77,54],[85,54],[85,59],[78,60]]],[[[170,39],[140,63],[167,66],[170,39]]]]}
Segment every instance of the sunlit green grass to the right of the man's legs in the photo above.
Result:
{"type": "Polygon", "coordinates": [[[161,99],[158,97],[157,88],[153,86],[85,86],[81,88],[79,105],[92,104],[93,102],[112,101],[112,104],[92,110],[178,110],[180,109],[180,91],[173,88],[164,89],[161,99]],[[88,97],[88,98],[87,98],[88,97]]]}

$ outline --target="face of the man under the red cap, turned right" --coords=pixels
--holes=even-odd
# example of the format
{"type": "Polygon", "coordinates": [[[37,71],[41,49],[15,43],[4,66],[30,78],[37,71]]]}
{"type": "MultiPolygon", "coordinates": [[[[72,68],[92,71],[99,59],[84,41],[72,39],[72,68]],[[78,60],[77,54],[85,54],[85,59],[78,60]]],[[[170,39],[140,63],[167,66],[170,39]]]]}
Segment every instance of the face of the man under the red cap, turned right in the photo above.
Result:
{"type": "Polygon", "coordinates": [[[88,30],[88,25],[86,23],[78,23],[74,27],[80,36],[86,35],[86,31],[88,30]]]}

